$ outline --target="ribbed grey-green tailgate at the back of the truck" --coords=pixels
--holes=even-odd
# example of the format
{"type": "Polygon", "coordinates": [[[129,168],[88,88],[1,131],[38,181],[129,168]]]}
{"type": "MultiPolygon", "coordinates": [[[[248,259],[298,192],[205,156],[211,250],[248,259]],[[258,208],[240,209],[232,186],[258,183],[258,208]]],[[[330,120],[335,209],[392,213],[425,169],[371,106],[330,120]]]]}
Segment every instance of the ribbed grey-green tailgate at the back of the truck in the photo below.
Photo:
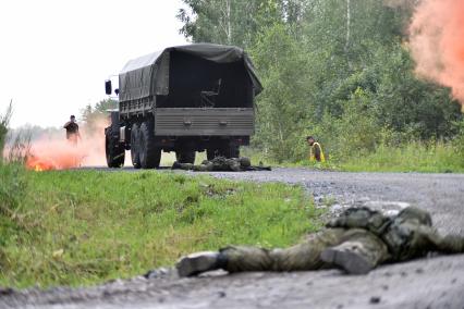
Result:
{"type": "Polygon", "coordinates": [[[156,136],[251,136],[254,109],[160,108],[155,110],[156,136]]]}

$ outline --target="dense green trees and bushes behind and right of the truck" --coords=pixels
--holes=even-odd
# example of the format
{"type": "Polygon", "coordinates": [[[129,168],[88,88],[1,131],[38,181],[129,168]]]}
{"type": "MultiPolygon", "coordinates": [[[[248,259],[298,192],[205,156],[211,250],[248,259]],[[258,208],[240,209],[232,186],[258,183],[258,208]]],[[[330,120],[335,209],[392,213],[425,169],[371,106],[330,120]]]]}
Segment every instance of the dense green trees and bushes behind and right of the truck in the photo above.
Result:
{"type": "Polygon", "coordinates": [[[304,160],[308,134],[338,161],[413,140],[460,147],[460,104],[414,74],[406,35],[417,1],[184,2],[187,38],[251,53],[265,86],[254,147],[270,158],[304,160]]]}

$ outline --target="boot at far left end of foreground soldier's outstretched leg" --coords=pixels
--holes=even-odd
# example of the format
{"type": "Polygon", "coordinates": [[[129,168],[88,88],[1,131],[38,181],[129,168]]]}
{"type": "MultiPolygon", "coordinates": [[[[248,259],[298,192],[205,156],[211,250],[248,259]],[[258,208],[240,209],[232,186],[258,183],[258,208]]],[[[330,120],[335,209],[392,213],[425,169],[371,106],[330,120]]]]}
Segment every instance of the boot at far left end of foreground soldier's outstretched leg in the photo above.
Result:
{"type": "Polygon", "coordinates": [[[180,276],[193,276],[203,272],[223,268],[223,259],[219,252],[204,251],[181,258],[175,268],[180,276]]]}

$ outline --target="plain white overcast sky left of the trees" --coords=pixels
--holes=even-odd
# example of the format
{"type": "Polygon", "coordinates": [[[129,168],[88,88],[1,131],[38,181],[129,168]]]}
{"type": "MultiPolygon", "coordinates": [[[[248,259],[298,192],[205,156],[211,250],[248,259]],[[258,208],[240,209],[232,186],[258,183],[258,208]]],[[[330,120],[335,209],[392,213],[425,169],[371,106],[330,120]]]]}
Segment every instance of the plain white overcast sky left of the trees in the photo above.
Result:
{"type": "Polygon", "coordinates": [[[1,0],[0,113],[11,126],[60,126],[105,95],[130,59],[186,44],[181,0],[1,0]]]}

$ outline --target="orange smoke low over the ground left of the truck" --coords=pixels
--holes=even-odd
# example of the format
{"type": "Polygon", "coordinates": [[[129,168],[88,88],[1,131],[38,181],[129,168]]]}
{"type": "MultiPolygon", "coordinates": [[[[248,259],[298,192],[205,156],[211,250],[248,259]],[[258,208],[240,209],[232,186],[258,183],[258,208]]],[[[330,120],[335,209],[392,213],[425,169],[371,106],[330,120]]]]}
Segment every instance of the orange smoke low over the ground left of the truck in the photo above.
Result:
{"type": "Polygon", "coordinates": [[[65,170],[106,164],[105,127],[108,121],[94,123],[91,129],[82,126],[82,139],[77,144],[61,136],[42,136],[30,145],[26,166],[34,171],[65,170]]]}

